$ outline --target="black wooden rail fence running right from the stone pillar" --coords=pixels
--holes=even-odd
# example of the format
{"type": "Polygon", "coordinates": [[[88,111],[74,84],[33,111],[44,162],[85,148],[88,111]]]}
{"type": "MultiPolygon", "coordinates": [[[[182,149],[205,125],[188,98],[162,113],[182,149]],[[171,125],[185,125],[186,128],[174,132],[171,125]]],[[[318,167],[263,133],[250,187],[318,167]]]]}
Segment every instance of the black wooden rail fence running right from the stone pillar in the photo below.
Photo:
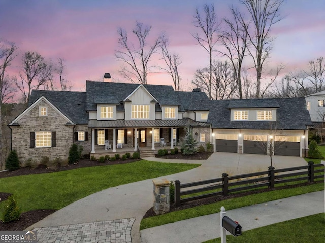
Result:
{"type": "Polygon", "coordinates": [[[308,162],[306,166],[291,167],[285,169],[277,169],[270,166],[268,171],[254,172],[249,174],[242,174],[236,176],[228,176],[223,173],[221,178],[197,181],[186,184],[181,184],[180,181],[175,181],[175,206],[179,207],[182,203],[187,201],[212,197],[212,196],[228,196],[229,193],[247,191],[255,188],[268,187],[274,188],[277,184],[287,182],[301,181],[314,182],[315,179],[324,178],[324,165],[314,164],[308,162]],[[316,170],[318,167],[321,169],[316,170]],[[290,172],[290,173],[285,173],[290,172]],[[281,174],[279,174],[281,173],[281,174]],[[316,175],[318,173],[318,175],[316,175]],[[257,178],[252,178],[257,177],[257,178]],[[252,179],[251,179],[252,178],[252,179]],[[232,181],[232,182],[230,182],[232,181]],[[211,185],[212,184],[212,185],[211,185]],[[200,187],[201,186],[201,187],[200,187]],[[189,187],[200,187],[190,190],[182,190],[189,187]],[[212,190],[221,189],[220,191],[209,192],[212,190]],[[203,194],[203,192],[208,192],[203,194]],[[200,193],[200,194],[199,194],[200,193]],[[199,194],[199,195],[195,195],[199,194]],[[182,196],[189,195],[189,197],[181,198],[182,196]]]}

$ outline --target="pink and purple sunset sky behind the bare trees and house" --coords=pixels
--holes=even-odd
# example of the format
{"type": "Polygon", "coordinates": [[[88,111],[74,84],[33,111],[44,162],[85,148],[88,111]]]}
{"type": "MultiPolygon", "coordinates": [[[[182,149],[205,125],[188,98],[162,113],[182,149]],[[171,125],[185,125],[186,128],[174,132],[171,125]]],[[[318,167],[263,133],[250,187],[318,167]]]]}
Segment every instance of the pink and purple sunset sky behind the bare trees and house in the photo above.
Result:
{"type": "MultiPolygon", "coordinates": [[[[18,77],[21,55],[34,51],[56,62],[65,59],[66,76],[72,90],[84,90],[85,80],[100,80],[109,72],[113,81],[123,82],[118,69],[122,62],[114,57],[118,47],[117,28],[129,35],[136,21],[151,25],[150,36],[162,31],[169,37],[169,51],[180,55],[179,73],[183,90],[196,69],[208,65],[208,53],[191,33],[195,9],[214,3],[219,20],[229,16],[229,6],[243,6],[239,0],[164,0],[164,1],[85,1],[85,0],[0,0],[0,38],[14,42],[18,55],[10,74],[18,77]]],[[[281,7],[283,20],[272,28],[273,42],[268,68],[283,63],[281,75],[295,68],[304,69],[310,60],[325,56],[325,1],[287,0],[281,7]]],[[[222,60],[222,57],[216,56],[222,60]]],[[[224,59],[225,60],[225,59],[224,59]]],[[[156,56],[152,64],[162,65],[156,56]]],[[[253,74],[253,72],[252,72],[253,74]]],[[[56,77],[57,78],[57,77],[56,77]]],[[[172,85],[166,73],[150,74],[148,84],[172,85]]]]}

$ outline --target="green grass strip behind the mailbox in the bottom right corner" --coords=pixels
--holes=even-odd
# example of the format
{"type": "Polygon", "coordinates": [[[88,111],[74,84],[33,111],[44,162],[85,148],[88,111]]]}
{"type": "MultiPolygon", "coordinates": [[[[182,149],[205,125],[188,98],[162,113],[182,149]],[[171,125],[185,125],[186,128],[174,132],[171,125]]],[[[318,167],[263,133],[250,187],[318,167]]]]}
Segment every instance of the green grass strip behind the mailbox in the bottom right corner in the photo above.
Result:
{"type": "MultiPolygon", "coordinates": [[[[242,235],[227,236],[229,243],[323,243],[325,240],[325,214],[315,214],[299,219],[271,224],[257,229],[242,232],[242,235]]],[[[213,239],[205,243],[220,243],[221,239],[213,239]]]]}

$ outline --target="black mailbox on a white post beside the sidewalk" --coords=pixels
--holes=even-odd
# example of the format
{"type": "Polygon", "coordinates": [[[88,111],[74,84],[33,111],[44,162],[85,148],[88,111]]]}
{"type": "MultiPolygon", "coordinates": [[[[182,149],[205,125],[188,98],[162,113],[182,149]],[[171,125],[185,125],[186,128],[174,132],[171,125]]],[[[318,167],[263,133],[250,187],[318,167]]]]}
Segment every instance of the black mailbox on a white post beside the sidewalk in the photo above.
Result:
{"type": "Polygon", "coordinates": [[[220,209],[220,230],[221,230],[221,243],[226,243],[226,231],[234,236],[242,235],[242,226],[228,216],[225,215],[225,208],[222,206],[220,209]]]}

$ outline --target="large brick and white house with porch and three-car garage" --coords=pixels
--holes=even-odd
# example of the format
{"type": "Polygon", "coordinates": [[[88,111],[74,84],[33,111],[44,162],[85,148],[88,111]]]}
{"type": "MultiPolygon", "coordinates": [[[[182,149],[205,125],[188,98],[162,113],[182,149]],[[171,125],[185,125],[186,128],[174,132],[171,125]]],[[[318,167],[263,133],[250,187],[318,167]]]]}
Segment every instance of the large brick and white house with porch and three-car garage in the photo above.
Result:
{"type": "Polygon", "coordinates": [[[9,127],[12,149],[26,165],[67,159],[73,143],[95,157],[154,151],[161,139],[164,148],[173,148],[188,126],[200,144],[210,142],[216,151],[261,153],[253,142],[274,135],[289,146],[280,154],[304,156],[310,124],[304,98],[209,100],[200,89],[87,81],[85,92],[33,90],[28,108],[9,127]]]}

